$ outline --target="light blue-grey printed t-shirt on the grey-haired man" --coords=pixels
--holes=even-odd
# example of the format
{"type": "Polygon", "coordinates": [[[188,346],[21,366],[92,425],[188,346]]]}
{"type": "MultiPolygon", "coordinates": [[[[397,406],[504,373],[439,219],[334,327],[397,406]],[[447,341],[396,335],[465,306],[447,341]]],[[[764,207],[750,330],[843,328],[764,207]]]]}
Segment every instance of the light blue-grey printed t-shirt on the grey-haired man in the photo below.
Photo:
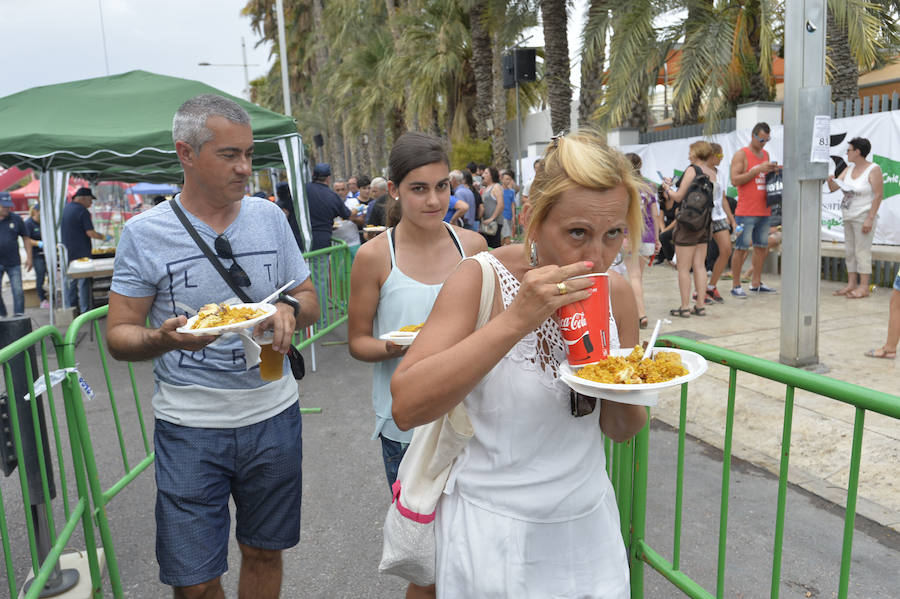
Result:
{"type": "MultiPolygon", "coordinates": [[[[181,206],[179,200],[176,196],[172,201],[181,206]]],[[[213,248],[218,234],[187,210],[184,213],[213,248]]],[[[291,279],[299,285],[309,278],[309,267],[287,219],[273,203],[245,197],[237,218],[223,235],[250,278],[251,286],[243,290],[252,300],[264,299],[291,279]]],[[[222,258],[221,262],[226,268],[231,266],[231,260],[222,258]]],[[[240,303],[185,231],[169,202],[125,224],[110,289],[127,297],[154,296],[149,314],[153,328],[174,316],[191,317],[204,304],[240,303]]],[[[267,384],[260,379],[258,367],[247,370],[243,345],[230,333],[196,352],[174,350],[159,356],[153,372],[157,418],[186,426],[253,424],[277,414],[297,397],[290,377],[267,384]],[[266,389],[261,389],[264,386],[266,389]],[[179,400],[181,396],[184,401],[179,400]]]]}

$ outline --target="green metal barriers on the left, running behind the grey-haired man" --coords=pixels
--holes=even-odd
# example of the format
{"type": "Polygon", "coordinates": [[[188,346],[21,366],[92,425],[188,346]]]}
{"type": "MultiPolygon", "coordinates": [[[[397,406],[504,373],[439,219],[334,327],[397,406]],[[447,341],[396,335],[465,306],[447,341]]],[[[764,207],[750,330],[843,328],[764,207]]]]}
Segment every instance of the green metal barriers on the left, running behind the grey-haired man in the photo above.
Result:
{"type": "MultiPolygon", "coordinates": [[[[328,298],[323,302],[324,305],[322,306],[323,320],[309,327],[305,334],[298,334],[299,337],[302,337],[300,342],[296,343],[298,349],[310,346],[317,339],[345,322],[347,320],[347,304],[350,297],[351,260],[349,248],[344,242],[335,240],[334,245],[331,247],[304,254],[304,258],[309,261],[311,270],[316,267],[327,269],[328,298]],[[316,258],[318,258],[318,260],[316,260],[316,258]],[[321,258],[325,259],[322,260],[321,258]]],[[[118,365],[127,369],[130,397],[118,397],[116,392],[117,388],[121,391],[122,386],[121,384],[114,386],[114,381],[120,382],[121,379],[117,379],[111,375],[109,354],[105,348],[103,330],[99,322],[106,316],[107,312],[108,307],[104,306],[80,315],[69,326],[64,338],[61,337],[60,332],[56,328],[45,326],[17,340],[15,343],[0,349],[0,365],[2,365],[4,369],[7,395],[13,397],[15,393],[8,362],[23,352],[26,352],[28,348],[39,344],[41,352],[40,370],[44,373],[43,376],[46,380],[46,395],[50,419],[53,424],[52,432],[55,441],[56,460],[58,461],[57,468],[60,477],[59,487],[63,495],[63,508],[65,513],[65,523],[62,529],[57,532],[51,508],[52,504],[48,490],[47,476],[42,463],[41,476],[43,482],[44,505],[46,506],[47,517],[49,520],[52,548],[43,563],[40,563],[35,539],[35,527],[32,522],[31,510],[28,509],[30,497],[27,481],[25,479],[25,469],[22,466],[24,461],[20,449],[21,440],[19,434],[19,422],[15,410],[10,410],[10,427],[16,441],[17,457],[19,461],[22,503],[26,506],[26,513],[23,519],[27,528],[29,554],[33,571],[38,573],[31,583],[28,593],[25,594],[26,599],[34,599],[40,595],[53,568],[58,565],[64,547],[70,542],[73,533],[78,528],[79,522],[82,526],[86,544],[92,597],[99,598],[103,596],[103,580],[97,557],[97,543],[95,541],[94,533],[95,524],[99,531],[102,547],[105,552],[112,595],[117,598],[124,596],[121,573],[115,553],[114,535],[110,527],[109,519],[107,518],[106,507],[116,495],[153,463],[155,454],[153,452],[147,423],[144,421],[141,410],[141,398],[138,389],[139,384],[135,377],[134,366],[131,363],[118,365]],[[93,338],[97,341],[96,355],[89,356],[84,351],[78,351],[78,340],[79,337],[83,335],[85,329],[90,329],[93,333],[93,338]],[[74,372],[68,373],[62,382],[66,427],[64,429],[59,427],[53,389],[49,380],[49,373],[53,368],[51,368],[51,365],[49,364],[47,353],[48,345],[53,347],[57,354],[59,368],[74,367],[79,361],[86,363],[89,360],[96,360],[102,366],[105,392],[106,396],[109,398],[109,414],[112,418],[112,428],[115,430],[115,444],[118,447],[122,461],[122,472],[120,474],[103,472],[103,476],[101,476],[101,473],[99,472],[96,455],[94,453],[94,444],[91,440],[90,425],[92,423],[85,412],[78,375],[74,372]],[[126,419],[126,412],[131,412],[132,406],[134,415],[127,415],[128,418],[126,419]],[[69,497],[65,468],[66,461],[64,459],[61,444],[64,433],[68,433],[69,437],[72,457],[71,470],[74,472],[76,479],[77,498],[69,497]],[[104,488],[103,484],[104,482],[108,482],[109,478],[113,478],[114,480],[109,486],[104,488]],[[93,506],[93,508],[91,506],[93,506]]],[[[34,375],[36,375],[36,373],[32,373],[29,360],[25,360],[25,364],[28,391],[32,398],[30,405],[36,414],[36,406],[38,403],[34,400],[34,375]]],[[[321,408],[301,408],[300,411],[307,414],[319,413],[321,412],[321,408]]],[[[36,417],[35,421],[37,421],[36,417]]],[[[102,424],[93,424],[102,427],[102,424]]],[[[42,442],[40,432],[37,431],[37,427],[35,428],[38,443],[40,444],[42,442]]],[[[43,459],[42,454],[41,458],[43,459]]],[[[18,593],[18,586],[20,585],[17,585],[15,578],[16,556],[11,551],[6,514],[7,511],[4,504],[3,493],[2,490],[0,490],[0,537],[2,537],[4,565],[10,597],[15,597],[18,593]]]]}

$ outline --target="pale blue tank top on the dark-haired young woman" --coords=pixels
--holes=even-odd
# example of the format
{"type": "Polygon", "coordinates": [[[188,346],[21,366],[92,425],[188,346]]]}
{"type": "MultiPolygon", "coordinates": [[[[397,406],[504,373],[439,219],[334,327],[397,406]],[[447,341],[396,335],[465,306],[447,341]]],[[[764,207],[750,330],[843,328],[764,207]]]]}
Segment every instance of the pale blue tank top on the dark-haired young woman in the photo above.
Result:
{"type": "MultiPolygon", "coordinates": [[[[447,231],[459,250],[460,259],[466,257],[462,244],[456,236],[453,227],[447,225],[447,231]]],[[[391,272],[378,295],[378,308],[375,310],[375,321],[372,334],[378,338],[384,333],[396,331],[400,327],[425,322],[434,306],[434,300],[441,292],[443,283],[426,285],[403,274],[397,266],[397,257],[394,253],[394,229],[387,230],[388,247],[391,252],[391,272]]],[[[375,408],[375,432],[372,438],[384,435],[392,441],[409,443],[412,440],[412,431],[401,431],[394,424],[391,416],[391,377],[401,358],[391,358],[375,363],[374,376],[372,378],[372,406],[375,408]]]]}

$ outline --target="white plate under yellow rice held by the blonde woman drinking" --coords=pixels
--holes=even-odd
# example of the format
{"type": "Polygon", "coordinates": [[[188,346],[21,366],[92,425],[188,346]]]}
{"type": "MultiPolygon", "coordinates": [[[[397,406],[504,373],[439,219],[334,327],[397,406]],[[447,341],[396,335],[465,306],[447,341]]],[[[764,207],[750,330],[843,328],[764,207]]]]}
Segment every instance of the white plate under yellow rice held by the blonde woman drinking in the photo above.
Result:
{"type": "MultiPolygon", "coordinates": [[[[632,349],[633,348],[613,350],[612,355],[624,357],[630,354],[632,349]]],[[[657,347],[654,352],[658,351],[679,354],[681,356],[681,363],[688,369],[688,373],[662,383],[644,383],[639,385],[598,383],[597,381],[590,381],[575,375],[575,371],[584,366],[584,364],[573,367],[569,366],[568,362],[564,362],[559,365],[559,377],[566,385],[582,395],[600,397],[620,403],[655,406],[659,399],[660,389],[676,387],[683,383],[687,383],[688,381],[692,381],[706,372],[706,369],[709,367],[709,364],[703,356],[691,351],[657,347]]]]}

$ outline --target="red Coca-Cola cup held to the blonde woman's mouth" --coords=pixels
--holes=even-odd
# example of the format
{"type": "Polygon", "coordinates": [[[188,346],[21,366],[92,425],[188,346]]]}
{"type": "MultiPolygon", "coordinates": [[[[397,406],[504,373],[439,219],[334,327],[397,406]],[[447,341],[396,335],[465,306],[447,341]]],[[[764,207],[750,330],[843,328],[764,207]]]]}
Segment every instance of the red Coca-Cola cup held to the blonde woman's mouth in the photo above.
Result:
{"type": "Polygon", "coordinates": [[[556,311],[569,364],[581,366],[609,357],[609,275],[591,273],[591,296],[556,311]]]}

